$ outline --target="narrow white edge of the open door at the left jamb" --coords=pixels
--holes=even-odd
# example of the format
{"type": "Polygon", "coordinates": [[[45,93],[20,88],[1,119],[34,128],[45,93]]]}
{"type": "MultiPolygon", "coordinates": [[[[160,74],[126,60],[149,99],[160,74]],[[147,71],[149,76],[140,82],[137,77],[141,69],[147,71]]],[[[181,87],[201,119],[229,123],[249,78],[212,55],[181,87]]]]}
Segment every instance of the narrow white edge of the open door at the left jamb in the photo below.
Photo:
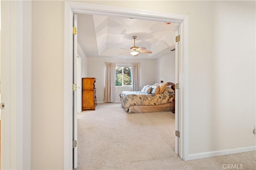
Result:
{"type": "MultiPolygon", "coordinates": [[[[77,15],[73,17],[73,27],[77,29],[77,15]]],[[[77,31],[73,33],[73,138],[77,141],[77,31]]],[[[73,147],[73,168],[77,168],[77,147],[73,147]]]]}

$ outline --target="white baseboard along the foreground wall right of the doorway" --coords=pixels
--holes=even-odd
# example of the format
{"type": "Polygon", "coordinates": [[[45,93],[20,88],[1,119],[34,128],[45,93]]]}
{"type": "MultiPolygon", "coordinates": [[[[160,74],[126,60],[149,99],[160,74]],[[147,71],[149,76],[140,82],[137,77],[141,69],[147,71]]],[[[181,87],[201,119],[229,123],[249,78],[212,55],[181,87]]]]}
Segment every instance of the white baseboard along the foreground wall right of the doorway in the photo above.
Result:
{"type": "Polygon", "coordinates": [[[249,151],[254,151],[254,150],[256,150],[256,146],[245,147],[245,148],[236,148],[236,149],[218,150],[218,151],[212,151],[212,152],[202,152],[202,153],[198,153],[198,154],[188,154],[188,156],[185,157],[185,160],[209,158],[209,157],[214,157],[214,156],[222,156],[222,155],[226,155],[226,154],[249,152],[249,151]]]}

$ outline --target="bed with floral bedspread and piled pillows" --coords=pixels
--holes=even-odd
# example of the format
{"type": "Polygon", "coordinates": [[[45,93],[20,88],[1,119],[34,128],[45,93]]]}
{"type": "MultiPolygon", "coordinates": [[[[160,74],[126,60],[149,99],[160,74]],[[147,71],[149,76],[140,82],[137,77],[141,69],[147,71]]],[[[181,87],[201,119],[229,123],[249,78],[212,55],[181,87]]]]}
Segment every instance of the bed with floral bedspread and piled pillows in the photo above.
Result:
{"type": "Polygon", "coordinates": [[[174,83],[162,83],[164,88],[160,88],[161,84],[146,85],[141,91],[123,91],[119,96],[121,106],[128,113],[146,113],[156,111],[172,111],[175,113],[175,85],[174,83]],[[151,90],[147,87],[150,86],[151,90]],[[157,87],[158,86],[158,87],[157,87]],[[159,89],[155,93],[154,89],[159,89]]]}

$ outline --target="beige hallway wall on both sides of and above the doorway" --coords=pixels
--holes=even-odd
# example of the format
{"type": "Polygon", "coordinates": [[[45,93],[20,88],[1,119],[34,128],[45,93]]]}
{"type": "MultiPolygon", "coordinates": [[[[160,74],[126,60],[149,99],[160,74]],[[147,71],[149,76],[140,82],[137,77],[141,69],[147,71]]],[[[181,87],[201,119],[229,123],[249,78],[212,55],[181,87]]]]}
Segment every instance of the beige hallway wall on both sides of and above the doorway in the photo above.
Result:
{"type": "MultiPolygon", "coordinates": [[[[255,6],[136,1],[134,8],[189,16],[189,154],[255,146],[255,6]]],[[[33,1],[32,169],[63,169],[63,75],[64,2],[33,1]]]]}

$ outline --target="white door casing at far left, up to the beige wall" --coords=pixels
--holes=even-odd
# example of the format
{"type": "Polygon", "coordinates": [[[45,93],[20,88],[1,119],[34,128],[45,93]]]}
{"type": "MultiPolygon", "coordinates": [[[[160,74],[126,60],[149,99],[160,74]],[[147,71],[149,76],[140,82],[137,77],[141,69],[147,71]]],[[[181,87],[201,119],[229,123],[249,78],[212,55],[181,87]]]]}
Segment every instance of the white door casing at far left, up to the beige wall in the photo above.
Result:
{"type": "Polygon", "coordinates": [[[1,169],[31,169],[31,9],[1,1],[1,169]]]}

